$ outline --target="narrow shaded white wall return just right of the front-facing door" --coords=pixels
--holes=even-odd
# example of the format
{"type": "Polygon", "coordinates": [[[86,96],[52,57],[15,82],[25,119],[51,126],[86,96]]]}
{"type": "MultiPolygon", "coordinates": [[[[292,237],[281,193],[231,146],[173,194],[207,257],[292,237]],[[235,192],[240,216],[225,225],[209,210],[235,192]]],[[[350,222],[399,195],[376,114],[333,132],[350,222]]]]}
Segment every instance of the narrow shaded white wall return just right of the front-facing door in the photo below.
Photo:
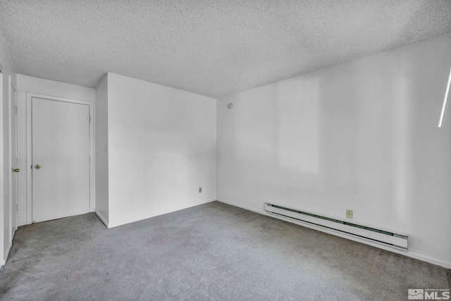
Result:
{"type": "Polygon", "coordinates": [[[108,226],[108,75],[96,87],[95,112],[95,212],[108,226]]]}

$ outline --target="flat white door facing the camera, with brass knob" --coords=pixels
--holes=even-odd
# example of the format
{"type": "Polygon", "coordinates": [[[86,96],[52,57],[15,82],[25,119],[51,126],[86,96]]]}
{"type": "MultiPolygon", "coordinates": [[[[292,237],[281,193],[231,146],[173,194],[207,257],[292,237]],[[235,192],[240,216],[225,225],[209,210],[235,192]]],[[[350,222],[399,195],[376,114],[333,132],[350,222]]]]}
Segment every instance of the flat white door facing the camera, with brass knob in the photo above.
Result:
{"type": "Polygon", "coordinates": [[[32,98],[32,221],[89,212],[89,105],[32,98]]]}

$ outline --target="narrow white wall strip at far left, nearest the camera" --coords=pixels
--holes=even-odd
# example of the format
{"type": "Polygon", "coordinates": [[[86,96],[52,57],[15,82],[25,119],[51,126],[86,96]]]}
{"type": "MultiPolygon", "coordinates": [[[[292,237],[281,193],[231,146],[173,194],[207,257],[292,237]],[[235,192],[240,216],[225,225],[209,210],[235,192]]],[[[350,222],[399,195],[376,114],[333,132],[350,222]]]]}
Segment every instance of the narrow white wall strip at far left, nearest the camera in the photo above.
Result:
{"type": "Polygon", "coordinates": [[[11,158],[10,158],[10,93],[11,82],[17,87],[16,70],[13,67],[4,38],[0,32],[0,65],[2,71],[2,93],[0,95],[0,266],[4,265],[8,258],[13,237],[11,236],[11,158]]]}

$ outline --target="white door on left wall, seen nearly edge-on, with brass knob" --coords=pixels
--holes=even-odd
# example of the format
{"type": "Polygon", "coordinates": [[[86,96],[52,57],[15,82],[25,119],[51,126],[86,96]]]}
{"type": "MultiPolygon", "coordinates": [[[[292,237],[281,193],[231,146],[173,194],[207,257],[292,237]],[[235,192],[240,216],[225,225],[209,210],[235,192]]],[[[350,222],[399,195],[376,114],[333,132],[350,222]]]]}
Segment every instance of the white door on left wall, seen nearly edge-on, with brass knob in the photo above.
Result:
{"type": "Polygon", "coordinates": [[[17,229],[17,91],[11,83],[11,167],[13,175],[11,177],[11,238],[17,229]]]}

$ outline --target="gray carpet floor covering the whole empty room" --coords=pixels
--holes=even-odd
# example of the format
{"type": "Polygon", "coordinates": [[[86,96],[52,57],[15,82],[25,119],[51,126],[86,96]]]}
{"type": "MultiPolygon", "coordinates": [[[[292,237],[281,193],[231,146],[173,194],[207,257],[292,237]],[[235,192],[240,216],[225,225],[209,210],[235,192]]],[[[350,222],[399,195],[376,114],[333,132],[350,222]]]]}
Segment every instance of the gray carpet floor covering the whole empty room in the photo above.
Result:
{"type": "Polygon", "coordinates": [[[1,300],[407,300],[450,270],[223,203],[21,226],[1,300]]]}

